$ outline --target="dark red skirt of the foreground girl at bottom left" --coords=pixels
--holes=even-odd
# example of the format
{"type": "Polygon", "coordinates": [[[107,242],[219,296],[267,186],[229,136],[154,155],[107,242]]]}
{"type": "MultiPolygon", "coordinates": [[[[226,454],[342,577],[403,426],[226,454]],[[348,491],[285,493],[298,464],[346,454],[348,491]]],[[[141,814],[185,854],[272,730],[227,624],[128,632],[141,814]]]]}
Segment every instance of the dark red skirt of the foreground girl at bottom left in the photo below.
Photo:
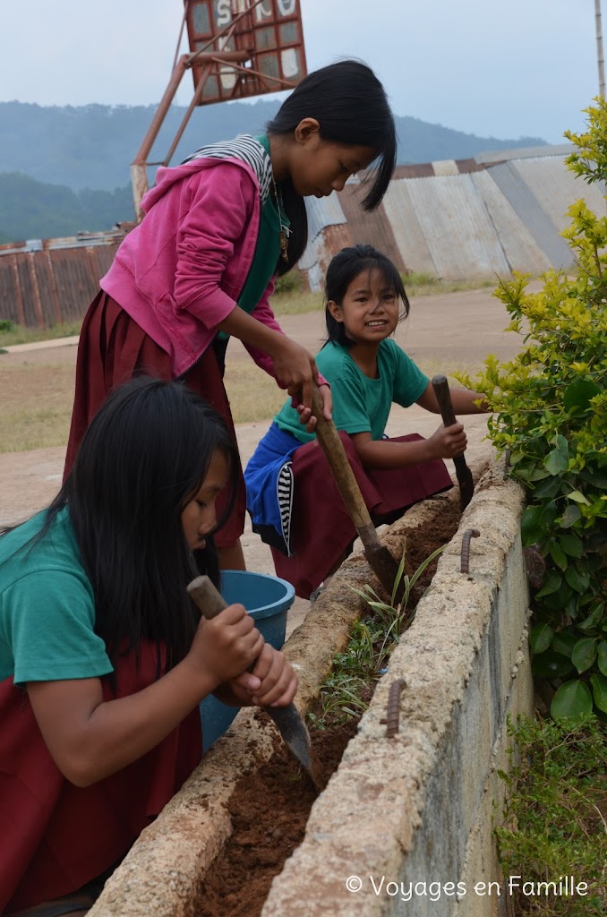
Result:
{"type": "MultiPolygon", "coordinates": [[[[155,680],[155,646],[119,658],[116,693],[102,679],[104,701],[143,691],[155,680]]],[[[71,895],[127,853],[199,764],[203,742],[195,707],[158,746],[89,787],[75,787],[50,756],[28,694],[0,682],[0,913],[71,895]]]]}

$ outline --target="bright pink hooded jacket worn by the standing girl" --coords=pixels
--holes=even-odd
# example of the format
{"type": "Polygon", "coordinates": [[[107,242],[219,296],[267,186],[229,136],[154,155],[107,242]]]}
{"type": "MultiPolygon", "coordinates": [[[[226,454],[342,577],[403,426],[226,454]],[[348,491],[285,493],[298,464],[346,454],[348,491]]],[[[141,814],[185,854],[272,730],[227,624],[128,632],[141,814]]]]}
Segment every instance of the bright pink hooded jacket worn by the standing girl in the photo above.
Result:
{"type": "MultiPolygon", "coordinates": [[[[259,233],[259,182],[242,160],[202,157],[160,168],[141,206],[144,219],[100,285],[170,354],[177,377],[237,304],[259,233]]],[[[272,278],[251,315],[281,331],[269,304],[273,289],[272,278]]],[[[270,357],[247,349],[275,378],[270,357]]]]}

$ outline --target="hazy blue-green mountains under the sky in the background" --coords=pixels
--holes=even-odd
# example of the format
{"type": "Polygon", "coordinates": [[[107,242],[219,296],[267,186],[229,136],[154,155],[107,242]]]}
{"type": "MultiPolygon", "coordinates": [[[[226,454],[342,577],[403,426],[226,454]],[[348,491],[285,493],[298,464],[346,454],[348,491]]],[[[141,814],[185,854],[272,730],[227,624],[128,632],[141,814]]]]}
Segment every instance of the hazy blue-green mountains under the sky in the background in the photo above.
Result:
{"type": "MultiPolygon", "coordinates": [[[[204,143],[259,133],[279,105],[260,99],[252,105],[197,108],[171,161],[181,161],[204,143]]],[[[132,219],[129,164],[155,110],[154,105],[0,103],[0,239],[66,236],[132,219]]],[[[149,161],[164,159],[185,111],[171,108],[149,161]]],[[[545,143],[476,137],[413,117],[396,122],[400,163],[466,159],[489,149],[545,143]]]]}

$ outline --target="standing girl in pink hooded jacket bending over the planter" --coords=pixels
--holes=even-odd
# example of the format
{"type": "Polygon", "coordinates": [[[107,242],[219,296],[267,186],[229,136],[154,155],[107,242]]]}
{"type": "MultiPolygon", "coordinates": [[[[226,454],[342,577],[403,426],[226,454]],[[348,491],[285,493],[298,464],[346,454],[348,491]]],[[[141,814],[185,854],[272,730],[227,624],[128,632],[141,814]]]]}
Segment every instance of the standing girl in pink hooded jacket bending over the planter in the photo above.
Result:
{"type": "MultiPolygon", "coordinates": [[[[303,405],[309,429],[313,379],[330,416],[315,359],[281,333],[270,294],[305,249],[303,198],[339,192],[375,162],[362,201],[373,210],[395,159],[381,83],[365,64],[339,61],[296,86],[267,135],[239,135],[160,168],[142,201],[144,219],[117,250],[84,318],[64,474],[105,394],[142,372],[185,381],[222,414],[236,440],[223,382],[230,335],[303,405]]],[[[224,569],[245,566],[245,503],[240,473],[236,508],[217,536],[224,569]]]]}

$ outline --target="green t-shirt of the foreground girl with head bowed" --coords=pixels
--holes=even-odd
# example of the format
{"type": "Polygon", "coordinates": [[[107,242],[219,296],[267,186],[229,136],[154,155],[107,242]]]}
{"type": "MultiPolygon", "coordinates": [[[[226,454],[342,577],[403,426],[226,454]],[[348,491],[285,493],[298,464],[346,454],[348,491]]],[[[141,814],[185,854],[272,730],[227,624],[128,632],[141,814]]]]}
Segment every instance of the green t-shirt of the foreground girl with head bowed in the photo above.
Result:
{"type": "Polygon", "coordinates": [[[44,516],[0,538],[0,680],[100,678],[113,667],[94,633],[93,589],[70,514],[61,509],[49,532],[30,547],[44,516]]]}

